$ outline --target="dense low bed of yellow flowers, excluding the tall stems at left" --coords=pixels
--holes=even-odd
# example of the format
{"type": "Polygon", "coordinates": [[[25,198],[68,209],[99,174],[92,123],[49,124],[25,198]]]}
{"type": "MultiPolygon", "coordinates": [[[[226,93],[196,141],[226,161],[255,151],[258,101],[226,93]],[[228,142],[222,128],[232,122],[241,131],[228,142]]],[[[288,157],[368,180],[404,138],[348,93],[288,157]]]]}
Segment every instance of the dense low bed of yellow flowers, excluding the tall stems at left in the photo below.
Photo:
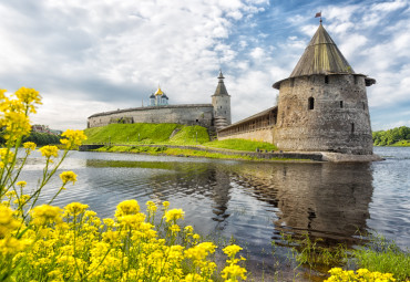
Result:
{"type": "MultiPolygon", "coordinates": [[[[146,205],[147,212],[155,212],[154,205],[146,205]]],[[[0,222],[8,230],[3,233],[10,234],[19,227],[19,220],[13,219],[10,208],[2,207],[0,211],[0,222]]],[[[178,210],[177,215],[181,213],[178,210]]],[[[119,203],[114,219],[101,220],[80,202],[69,203],[63,210],[42,205],[30,215],[20,239],[8,236],[8,241],[0,240],[0,259],[12,255],[12,268],[19,270],[12,273],[13,281],[41,276],[51,281],[208,282],[217,269],[209,259],[217,248],[214,243],[195,240],[191,226],[183,229],[182,243],[176,243],[175,234],[166,230],[181,231],[181,227],[173,222],[163,227],[147,222],[135,200],[119,203]]],[[[222,272],[226,281],[246,279],[246,270],[236,264],[235,254],[239,250],[238,246],[224,249],[230,257],[222,272]]]]}

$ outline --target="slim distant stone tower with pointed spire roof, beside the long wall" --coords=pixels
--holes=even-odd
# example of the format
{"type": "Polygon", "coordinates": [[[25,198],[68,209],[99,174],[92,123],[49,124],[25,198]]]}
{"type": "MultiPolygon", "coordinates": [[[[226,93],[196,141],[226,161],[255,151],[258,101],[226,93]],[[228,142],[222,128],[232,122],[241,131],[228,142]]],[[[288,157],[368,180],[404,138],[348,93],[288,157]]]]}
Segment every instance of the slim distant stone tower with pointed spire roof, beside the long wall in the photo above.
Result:
{"type": "Polygon", "coordinates": [[[214,106],[214,121],[216,129],[230,125],[230,95],[224,84],[224,75],[219,71],[218,86],[212,95],[212,105],[214,106]]]}

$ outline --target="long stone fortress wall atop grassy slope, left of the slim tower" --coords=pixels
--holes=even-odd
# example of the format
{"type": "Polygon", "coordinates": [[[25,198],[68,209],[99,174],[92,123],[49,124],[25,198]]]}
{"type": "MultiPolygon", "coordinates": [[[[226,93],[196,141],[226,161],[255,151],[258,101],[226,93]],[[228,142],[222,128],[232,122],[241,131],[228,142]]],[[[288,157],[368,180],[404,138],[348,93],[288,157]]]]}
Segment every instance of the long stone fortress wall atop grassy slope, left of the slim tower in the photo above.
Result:
{"type": "Polygon", "coordinates": [[[132,118],[133,123],[175,123],[186,125],[213,126],[211,104],[167,105],[136,107],[94,114],[88,119],[88,127],[105,126],[113,119],[132,118]]]}

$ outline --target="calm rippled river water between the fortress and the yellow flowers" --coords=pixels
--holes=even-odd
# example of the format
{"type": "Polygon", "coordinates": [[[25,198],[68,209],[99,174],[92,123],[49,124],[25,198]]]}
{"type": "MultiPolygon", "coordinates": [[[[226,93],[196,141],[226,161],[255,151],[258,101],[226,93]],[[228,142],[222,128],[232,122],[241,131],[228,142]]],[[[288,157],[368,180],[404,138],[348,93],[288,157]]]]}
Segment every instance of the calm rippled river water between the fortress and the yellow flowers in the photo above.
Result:
{"type": "MultiPolygon", "coordinates": [[[[281,232],[356,244],[358,232],[376,230],[410,247],[410,148],[375,153],[386,160],[268,164],[73,152],[62,169],[78,174],[78,182],[54,205],[80,201],[105,218],[125,199],[142,208],[147,200],[168,200],[197,232],[234,237],[246,248],[250,270],[268,276],[277,268],[271,241],[280,242],[281,232]]],[[[33,154],[22,179],[38,178],[41,159],[33,154]]],[[[59,185],[50,184],[44,201],[59,185]]],[[[280,261],[286,255],[286,248],[276,250],[280,261]]]]}

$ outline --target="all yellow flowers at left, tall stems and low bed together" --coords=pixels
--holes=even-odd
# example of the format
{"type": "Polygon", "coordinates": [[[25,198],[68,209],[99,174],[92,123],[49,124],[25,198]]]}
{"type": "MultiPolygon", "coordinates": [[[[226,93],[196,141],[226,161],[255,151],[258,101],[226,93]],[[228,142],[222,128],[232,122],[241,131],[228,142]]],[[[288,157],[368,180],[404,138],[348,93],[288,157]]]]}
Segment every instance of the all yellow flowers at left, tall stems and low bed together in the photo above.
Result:
{"type": "MultiPolygon", "coordinates": [[[[29,113],[41,104],[40,95],[22,87],[10,100],[0,90],[0,128],[6,147],[0,148],[0,281],[213,281],[216,263],[209,257],[216,250],[212,242],[201,242],[191,226],[182,228],[182,209],[161,209],[146,202],[146,215],[136,200],[116,207],[113,219],[101,220],[88,205],[71,202],[61,209],[52,201],[75,182],[73,171],[60,174],[62,186],[45,205],[38,205],[43,187],[55,175],[68,150],[86,137],[79,130],[66,130],[59,158],[57,146],[39,149],[45,166],[37,188],[19,179],[34,143],[22,144],[30,133],[29,113]],[[19,155],[22,145],[25,155],[19,155]],[[53,159],[59,158],[57,164],[53,159]],[[25,194],[31,191],[30,195],[25,194]],[[155,221],[155,218],[157,220],[155,221]]],[[[29,180],[29,179],[28,179],[29,180]]],[[[228,247],[229,255],[222,276],[226,281],[246,279],[246,270],[235,259],[239,247],[228,247]]]]}

